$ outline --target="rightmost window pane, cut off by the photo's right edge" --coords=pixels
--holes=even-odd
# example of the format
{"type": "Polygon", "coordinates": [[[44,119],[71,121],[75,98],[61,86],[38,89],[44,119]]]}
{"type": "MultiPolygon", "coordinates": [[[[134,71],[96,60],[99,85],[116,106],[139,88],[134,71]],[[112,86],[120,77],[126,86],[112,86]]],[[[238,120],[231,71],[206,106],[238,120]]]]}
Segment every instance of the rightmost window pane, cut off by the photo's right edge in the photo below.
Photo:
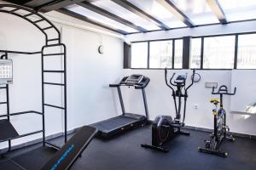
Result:
{"type": "Polygon", "coordinates": [[[256,34],[238,37],[238,69],[256,69],[256,34]]]}

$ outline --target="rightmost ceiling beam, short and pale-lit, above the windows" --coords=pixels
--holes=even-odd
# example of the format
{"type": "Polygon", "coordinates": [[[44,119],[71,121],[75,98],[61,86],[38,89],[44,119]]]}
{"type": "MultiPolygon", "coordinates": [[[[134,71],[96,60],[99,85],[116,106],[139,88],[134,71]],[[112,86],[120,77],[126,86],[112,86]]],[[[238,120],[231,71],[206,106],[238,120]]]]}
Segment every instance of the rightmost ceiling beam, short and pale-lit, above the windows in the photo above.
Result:
{"type": "MultiPolygon", "coordinates": [[[[224,10],[221,8],[220,4],[218,3],[218,0],[207,0],[208,5],[212,9],[212,12],[217,16],[219,22],[221,24],[227,24],[228,20],[224,14],[224,10]]],[[[232,3],[230,1],[230,3],[232,3]]]]}

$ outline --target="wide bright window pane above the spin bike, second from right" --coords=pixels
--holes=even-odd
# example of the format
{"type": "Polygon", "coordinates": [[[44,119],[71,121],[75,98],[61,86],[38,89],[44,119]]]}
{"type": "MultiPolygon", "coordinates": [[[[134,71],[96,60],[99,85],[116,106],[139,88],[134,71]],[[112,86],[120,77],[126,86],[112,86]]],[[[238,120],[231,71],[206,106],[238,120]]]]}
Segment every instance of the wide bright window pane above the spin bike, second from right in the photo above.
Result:
{"type": "Polygon", "coordinates": [[[206,37],[204,64],[206,69],[234,68],[235,36],[206,37]]]}

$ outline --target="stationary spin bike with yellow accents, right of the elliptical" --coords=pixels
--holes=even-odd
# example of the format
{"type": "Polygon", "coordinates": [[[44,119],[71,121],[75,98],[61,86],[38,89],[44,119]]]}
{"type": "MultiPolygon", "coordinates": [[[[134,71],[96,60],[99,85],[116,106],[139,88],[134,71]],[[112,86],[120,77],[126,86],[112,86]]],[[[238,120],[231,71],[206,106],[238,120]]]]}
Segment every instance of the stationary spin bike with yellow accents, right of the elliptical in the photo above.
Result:
{"type": "Polygon", "coordinates": [[[223,85],[218,88],[218,92],[214,92],[214,88],[212,88],[212,94],[219,94],[220,96],[220,101],[218,99],[211,99],[210,101],[215,106],[212,110],[212,115],[214,117],[214,130],[210,137],[205,140],[205,148],[199,147],[198,150],[217,156],[228,156],[228,152],[218,150],[219,145],[224,139],[229,141],[235,140],[232,135],[228,135],[230,127],[226,125],[226,111],[224,110],[223,105],[223,95],[235,95],[236,88],[234,88],[233,93],[228,93],[228,88],[223,85]]]}

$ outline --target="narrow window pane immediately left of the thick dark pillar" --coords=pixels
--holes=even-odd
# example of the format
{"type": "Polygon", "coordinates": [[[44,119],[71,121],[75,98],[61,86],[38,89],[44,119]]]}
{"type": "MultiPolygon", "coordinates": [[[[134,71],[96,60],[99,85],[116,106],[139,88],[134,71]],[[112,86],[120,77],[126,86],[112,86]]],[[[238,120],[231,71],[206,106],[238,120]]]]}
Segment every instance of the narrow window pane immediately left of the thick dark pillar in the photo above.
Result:
{"type": "Polygon", "coordinates": [[[175,40],[174,68],[183,68],[183,40],[175,40]]]}

